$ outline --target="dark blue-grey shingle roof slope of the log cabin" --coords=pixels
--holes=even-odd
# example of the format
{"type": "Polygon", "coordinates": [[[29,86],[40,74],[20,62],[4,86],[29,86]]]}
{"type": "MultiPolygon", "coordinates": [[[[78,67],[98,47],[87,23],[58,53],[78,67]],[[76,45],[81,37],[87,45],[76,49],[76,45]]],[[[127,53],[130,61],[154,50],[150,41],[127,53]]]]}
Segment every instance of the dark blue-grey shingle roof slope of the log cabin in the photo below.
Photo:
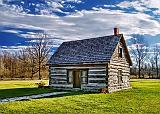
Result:
{"type": "Polygon", "coordinates": [[[82,64],[109,62],[121,35],[63,42],[48,64],[82,64]]]}

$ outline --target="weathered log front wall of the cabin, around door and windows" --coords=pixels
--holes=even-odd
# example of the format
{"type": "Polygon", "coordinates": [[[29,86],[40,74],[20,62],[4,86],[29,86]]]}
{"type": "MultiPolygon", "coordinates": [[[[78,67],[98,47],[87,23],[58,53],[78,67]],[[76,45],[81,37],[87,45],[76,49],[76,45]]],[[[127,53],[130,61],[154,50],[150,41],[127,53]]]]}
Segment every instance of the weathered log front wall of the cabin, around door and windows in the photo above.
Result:
{"type": "Polygon", "coordinates": [[[51,86],[58,87],[70,87],[72,88],[73,84],[67,83],[67,70],[71,69],[88,69],[88,83],[81,84],[81,89],[88,90],[97,90],[100,88],[106,87],[106,65],[103,66],[65,66],[65,67],[51,67],[49,68],[50,76],[49,76],[49,84],[51,86]]]}

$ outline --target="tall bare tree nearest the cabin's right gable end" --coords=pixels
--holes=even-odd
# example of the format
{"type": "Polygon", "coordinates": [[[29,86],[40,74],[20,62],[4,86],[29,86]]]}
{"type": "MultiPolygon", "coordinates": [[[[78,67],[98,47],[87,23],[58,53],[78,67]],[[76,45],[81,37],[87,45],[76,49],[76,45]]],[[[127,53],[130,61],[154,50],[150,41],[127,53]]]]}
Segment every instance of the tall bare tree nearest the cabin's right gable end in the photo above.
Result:
{"type": "Polygon", "coordinates": [[[135,59],[136,66],[138,66],[138,77],[141,78],[141,69],[147,55],[148,49],[144,37],[140,35],[133,35],[131,54],[135,59]]]}

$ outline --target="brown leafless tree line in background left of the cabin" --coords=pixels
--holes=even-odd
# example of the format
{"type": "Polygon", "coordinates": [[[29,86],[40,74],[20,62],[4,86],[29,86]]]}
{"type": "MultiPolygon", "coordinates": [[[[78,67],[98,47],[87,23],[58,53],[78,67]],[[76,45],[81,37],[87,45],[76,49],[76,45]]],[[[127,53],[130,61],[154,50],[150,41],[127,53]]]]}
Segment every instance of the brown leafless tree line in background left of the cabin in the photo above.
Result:
{"type": "Polygon", "coordinates": [[[50,47],[46,34],[19,51],[0,53],[0,79],[42,79],[48,77],[46,63],[50,47]]]}

